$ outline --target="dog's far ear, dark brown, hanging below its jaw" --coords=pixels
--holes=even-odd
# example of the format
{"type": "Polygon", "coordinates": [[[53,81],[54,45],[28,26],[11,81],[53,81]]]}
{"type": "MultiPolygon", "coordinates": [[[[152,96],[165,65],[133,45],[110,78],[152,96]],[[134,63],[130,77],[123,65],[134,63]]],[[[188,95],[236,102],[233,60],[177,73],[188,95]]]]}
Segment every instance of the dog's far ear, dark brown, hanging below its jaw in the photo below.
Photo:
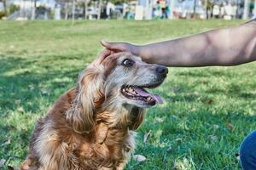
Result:
{"type": "Polygon", "coordinates": [[[131,110],[131,124],[130,129],[131,130],[137,130],[137,128],[142,124],[144,115],[146,110],[139,107],[134,107],[131,110]]]}

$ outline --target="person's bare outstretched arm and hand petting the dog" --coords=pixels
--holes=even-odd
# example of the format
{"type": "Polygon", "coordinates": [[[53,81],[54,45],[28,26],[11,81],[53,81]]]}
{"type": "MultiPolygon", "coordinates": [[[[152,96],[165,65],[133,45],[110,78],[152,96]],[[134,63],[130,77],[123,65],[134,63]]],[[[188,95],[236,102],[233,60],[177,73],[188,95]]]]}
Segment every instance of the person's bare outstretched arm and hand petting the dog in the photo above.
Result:
{"type": "Polygon", "coordinates": [[[134,45],[104,42],[113,52],[131,52],[148,63],[166,66],[241,65],[256,60],[256,20],[166,42],[134,45]]]}

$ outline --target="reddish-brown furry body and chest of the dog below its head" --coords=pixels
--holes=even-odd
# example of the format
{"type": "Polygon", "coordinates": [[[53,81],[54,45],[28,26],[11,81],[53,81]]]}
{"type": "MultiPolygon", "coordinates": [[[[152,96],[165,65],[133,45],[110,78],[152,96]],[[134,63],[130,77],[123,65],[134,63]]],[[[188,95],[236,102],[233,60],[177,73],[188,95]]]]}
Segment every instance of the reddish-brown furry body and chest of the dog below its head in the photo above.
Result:
{"type": "Polygon", "coordinates": [[[99,120],[92,132],[76,133],[65,117],[69,100],[63,95],[38,121],[21,169],[122,169],[134,150],[135,133],[99,120]]]}

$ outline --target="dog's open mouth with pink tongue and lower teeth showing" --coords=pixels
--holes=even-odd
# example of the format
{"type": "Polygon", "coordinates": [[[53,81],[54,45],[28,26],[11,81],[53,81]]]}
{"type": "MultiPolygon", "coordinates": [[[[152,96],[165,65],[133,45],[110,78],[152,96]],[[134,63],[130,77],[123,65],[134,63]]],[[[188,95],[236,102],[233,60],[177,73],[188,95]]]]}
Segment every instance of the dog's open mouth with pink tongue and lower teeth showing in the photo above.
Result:
{"type": "MultiPolygon", "coordinates": [[[[125,98],[137,100],[143,105],[155,105],[163,103],[163,99],[161,99],[160,95],[150,94],[144,88],[145,87],[124,86],[121,88],[121,93],[125,96],[125,98]]],[[[147,88],[151,87],[147,86],[147,88]]]]}

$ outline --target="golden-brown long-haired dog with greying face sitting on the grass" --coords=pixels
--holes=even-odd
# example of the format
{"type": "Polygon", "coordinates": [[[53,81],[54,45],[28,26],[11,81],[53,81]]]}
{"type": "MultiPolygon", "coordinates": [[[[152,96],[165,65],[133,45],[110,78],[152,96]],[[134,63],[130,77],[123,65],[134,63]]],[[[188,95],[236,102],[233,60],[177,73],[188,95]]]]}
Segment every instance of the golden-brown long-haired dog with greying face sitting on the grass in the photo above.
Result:
{"type": "Polygon", "coordinates": [[[100,58],[38,120],[21,170],[125,167],[145,109],[162,103],[144,88],[158,87],[168,70],[129,53],[100,58]]]}

